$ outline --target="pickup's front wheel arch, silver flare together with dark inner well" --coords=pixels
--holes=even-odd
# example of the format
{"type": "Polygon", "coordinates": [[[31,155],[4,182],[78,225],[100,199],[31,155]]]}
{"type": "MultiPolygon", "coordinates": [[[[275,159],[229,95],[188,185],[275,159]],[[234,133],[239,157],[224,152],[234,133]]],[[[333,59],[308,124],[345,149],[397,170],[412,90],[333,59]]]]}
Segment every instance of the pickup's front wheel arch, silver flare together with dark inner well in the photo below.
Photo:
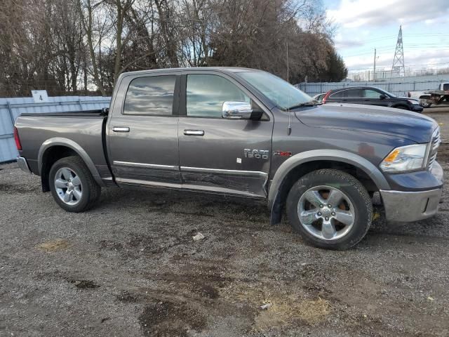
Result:
{"type": "MultiPolygon", "coordinates": [[[[342,169],[342,171],[350,171],[351,169],[358,170],[364,178],[364,181],[361,181],[361,183],[366,187],[373,185],[370,189],[391,189],[387,179],[385,179],[380,170],[358,154],[342,150],[311,150],[301,152],[284,161],[279,166],[279,169],[277,169],[270,183],[268,193],[268,207],[271,211],[270,222],[275,224],[281,221],[281,213],[286,195],[291,185],[297,179],[316,169],[330,168],[342,169]]],[[[356,176],[356,178],[359,177],[356,176]]]]}

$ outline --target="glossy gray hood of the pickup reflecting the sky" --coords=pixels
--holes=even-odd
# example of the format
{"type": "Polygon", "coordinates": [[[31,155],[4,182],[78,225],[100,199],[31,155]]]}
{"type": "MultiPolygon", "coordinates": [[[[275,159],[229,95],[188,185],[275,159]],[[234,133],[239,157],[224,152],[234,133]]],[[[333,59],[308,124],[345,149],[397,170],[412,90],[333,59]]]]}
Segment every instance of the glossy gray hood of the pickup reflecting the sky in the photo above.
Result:
{"type": "Polygon", "coordinates": [[[314,128],[340,128],[407,138],[428,143],[438,124],[434,119],[391,107],[326,103],[295,112],[297,119],[314,128]]]}

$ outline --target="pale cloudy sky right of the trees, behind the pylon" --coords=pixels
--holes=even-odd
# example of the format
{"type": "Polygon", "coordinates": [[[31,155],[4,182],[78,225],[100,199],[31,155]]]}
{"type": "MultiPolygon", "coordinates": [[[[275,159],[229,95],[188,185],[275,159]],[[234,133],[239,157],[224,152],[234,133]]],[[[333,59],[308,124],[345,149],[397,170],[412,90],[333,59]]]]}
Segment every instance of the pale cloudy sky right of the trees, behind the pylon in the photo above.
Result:
{"type": "Polygon", "coordinates": [[[449,67],[449,0],[323,0],[349,71],[391,67],[402,25],[406,67],[449,67]]]}

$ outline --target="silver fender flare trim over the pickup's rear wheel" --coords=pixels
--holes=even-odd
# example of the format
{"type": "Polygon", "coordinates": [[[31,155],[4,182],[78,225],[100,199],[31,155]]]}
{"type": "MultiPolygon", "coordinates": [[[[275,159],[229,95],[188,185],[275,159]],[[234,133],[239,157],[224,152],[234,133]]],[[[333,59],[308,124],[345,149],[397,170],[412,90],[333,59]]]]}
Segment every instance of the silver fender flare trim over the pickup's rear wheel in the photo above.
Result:
{"type": "Polygon", "coordinates": [[[54,137],[46,140],[42,143],[41,147],[39,148],[39,153],[37,155],[37,166],[39,169],[39,176],[42,174],[42,166],[43,166],[43,154],[46,152],[46,150],[50,149],[53,146],[65,146],[69,147],[70,149],[74,150],[76,154],[83,159],[84,163],[86,164],[89,171],[91,171],[91,174],[95,181],[100,186],[105,186],[105,183],[102,181],[100,173],[98,173],[97,168],[95,167],[95,164],[93,164],[93,161],[91,157],[89,157],[88,153],[81,147],[78,143],[75,143],[73,140],[70,140],[68,138],[62,138],[62,137],[54,137]]]}

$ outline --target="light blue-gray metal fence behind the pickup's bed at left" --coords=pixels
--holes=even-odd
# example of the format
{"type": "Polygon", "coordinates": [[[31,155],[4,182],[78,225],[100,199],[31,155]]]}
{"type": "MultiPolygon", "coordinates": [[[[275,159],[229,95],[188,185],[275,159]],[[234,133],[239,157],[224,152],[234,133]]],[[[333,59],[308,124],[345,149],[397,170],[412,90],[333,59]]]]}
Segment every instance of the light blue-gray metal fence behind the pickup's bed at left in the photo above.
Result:
{"type": "Polygon", "coordinates": [[[56,96],[45,103],[34,103],[32,97],[0,98],[0,163],[18,156],[13,126],[20,114],[97,110],[109,107],[110,101],[110,97],[98,96],[56,96]]]}

